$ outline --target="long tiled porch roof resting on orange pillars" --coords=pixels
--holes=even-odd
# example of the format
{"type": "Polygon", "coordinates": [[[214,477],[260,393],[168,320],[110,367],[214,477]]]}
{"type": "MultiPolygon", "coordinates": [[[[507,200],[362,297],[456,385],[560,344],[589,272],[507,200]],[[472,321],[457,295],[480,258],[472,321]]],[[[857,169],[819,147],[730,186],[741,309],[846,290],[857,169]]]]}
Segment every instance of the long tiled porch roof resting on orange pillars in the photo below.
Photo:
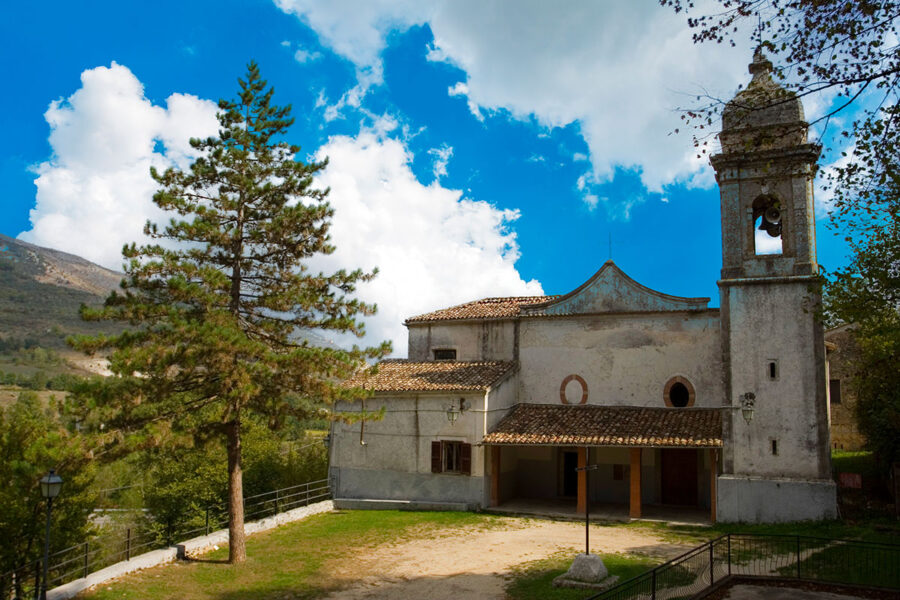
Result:
{"type": "Polygon", "coordinates": [[[722,415],[714,408],[519,404],[484,443],[717,448],[722,415]]]}

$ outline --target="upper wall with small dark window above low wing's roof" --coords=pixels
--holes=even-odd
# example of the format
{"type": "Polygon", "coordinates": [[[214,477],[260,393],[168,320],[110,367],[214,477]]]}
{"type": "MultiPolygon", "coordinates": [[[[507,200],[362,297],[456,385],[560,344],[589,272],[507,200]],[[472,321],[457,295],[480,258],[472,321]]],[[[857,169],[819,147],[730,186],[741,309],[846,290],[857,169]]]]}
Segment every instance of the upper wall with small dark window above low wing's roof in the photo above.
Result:
{"type": "Polygon", "coordinates": [[[512,320],[409,325],[409,359],[433,360],[435,348],[456,350],[457,360],[515,360],[512,320]]]}

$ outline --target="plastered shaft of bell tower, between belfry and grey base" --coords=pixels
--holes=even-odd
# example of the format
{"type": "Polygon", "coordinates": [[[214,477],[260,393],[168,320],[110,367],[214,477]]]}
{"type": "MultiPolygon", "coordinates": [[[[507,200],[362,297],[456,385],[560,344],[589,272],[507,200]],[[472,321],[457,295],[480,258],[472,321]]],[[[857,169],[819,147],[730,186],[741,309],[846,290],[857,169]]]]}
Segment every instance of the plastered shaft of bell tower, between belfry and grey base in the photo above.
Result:
{"type": "Polygon", "coordinates": [[[724,472],[830,477],[824,340],[808,281],[722,285],[732,401],[756,396],[753,420],[729,411],[724,472]],[[777,373],[769,376],[769,363],[777,373]],[[777,454],[772,443],[777,444],[777,454]]]}

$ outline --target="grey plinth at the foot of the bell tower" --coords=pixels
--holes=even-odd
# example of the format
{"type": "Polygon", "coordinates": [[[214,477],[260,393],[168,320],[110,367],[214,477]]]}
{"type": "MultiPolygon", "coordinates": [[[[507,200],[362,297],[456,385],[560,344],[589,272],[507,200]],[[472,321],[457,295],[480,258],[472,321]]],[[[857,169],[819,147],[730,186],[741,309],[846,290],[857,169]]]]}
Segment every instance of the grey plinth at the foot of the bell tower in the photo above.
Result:
{"type": "Polygon", "coordinates": [[[784,523],[838,516],[830,480],[721,475],[717,490],[716,517],[721,522],[784,523]]]}

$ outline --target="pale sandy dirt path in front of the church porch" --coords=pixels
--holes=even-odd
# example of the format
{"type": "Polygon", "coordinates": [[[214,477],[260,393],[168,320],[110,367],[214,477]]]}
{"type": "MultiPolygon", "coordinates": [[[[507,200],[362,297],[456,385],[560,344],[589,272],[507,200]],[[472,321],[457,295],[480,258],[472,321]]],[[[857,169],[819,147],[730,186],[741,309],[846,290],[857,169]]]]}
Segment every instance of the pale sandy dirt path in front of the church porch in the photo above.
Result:
{"type": "MultiPolygon", "coordinates": [[[[591,552],[639,552],[671,558],[684,546],[622,527],[591,527],[591,552]]],[[[348,587],[330,599],[502,599],[516,565],[560,550],[584,551],[584,525],[505,519],[489,529],[447,530],[378,546],[330,567],[348,587]],[[352,583],[351,583],[352,582],[352,583]]]]}

